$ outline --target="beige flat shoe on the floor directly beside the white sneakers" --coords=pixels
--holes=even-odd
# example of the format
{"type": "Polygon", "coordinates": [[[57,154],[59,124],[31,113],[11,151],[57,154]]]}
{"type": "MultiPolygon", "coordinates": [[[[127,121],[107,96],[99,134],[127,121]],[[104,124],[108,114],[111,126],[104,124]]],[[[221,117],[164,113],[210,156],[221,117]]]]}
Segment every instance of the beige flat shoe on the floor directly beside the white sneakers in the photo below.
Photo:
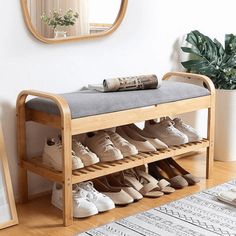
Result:
{"type": "Polygon", "coordinates": [[[112,187],[106,177],[93,180],[94,187],[101,193],[110,197],[116,205],[127,205],[134,199],[121,188],[112,187]]]}

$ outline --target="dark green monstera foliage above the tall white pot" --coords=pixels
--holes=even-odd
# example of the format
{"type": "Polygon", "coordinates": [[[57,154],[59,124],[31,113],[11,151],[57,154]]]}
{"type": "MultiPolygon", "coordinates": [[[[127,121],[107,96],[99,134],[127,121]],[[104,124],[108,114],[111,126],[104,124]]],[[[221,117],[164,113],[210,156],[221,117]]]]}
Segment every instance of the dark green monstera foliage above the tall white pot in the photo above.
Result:
{"type": "Polygon", "coordinates": [[[189,72],[210,77],[216,88],[236,89],[236,36],[225,36],[225,48],[216,39],[195,30],[187,35],[186,41],[191,47],[182,47],[194,59],[181,64],[189,72]]]}

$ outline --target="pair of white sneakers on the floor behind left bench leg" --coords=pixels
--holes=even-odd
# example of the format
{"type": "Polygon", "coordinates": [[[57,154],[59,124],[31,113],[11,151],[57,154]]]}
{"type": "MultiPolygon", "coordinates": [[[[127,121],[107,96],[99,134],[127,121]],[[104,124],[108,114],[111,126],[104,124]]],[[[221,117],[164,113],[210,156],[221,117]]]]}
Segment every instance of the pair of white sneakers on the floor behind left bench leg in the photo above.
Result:
{"type": "MultiPolygon", "coordinates": [[[[82,182],[73,186],[73,216],[84,218],[115,208],[114,202],[99,193],[92,182],[82,182]]],[[[52,190],[52,204],[62,210],[62,186],[54,183],[52,190]]]]}

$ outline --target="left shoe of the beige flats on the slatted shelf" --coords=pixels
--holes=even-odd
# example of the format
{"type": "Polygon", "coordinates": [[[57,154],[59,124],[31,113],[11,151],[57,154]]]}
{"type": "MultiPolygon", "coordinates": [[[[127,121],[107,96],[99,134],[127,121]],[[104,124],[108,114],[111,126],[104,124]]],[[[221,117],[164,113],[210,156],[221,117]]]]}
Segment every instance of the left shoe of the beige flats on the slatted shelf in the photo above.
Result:
{"type": "Polygon", "coordinates": [[[128,142],[132,143],[139,152],[155,152],[156,148],[148,142],[146,139],[137,135],[135,131],[128,126],[120,126],[116,128],[116,131],[128,142]]]}

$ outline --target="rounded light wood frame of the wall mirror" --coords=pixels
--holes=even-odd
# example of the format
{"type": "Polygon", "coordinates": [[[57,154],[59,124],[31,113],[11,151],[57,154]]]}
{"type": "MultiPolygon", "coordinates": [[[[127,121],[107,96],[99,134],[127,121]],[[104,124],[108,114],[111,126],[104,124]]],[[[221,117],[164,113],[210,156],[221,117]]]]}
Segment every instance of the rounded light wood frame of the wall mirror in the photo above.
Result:
{"type": "Polygon", "coordinates": [[[62,43],[62,42],[71,42],[71,41],[79,41],[79,40],[83,40],[83,39],[93,39],[93,38],[100,38],[106,35],[109,35],[111,33],[113,33],[121,24],[124,16],[125,16],[125,12],[127,9],[127,5],[128,5],[128,0],[121,0],[121,6],[120,6],[120,10],[119,13],[116,17],[116,20],[113,24],[113,26],[106,30],[103,31],[101,33],[97,33],[97,34],[91,34],[91,35],[82,35],[82,36],[74,36],[74,37],[68,37],[68,38],[64,38],[64,39],[48,39],[45,38],[43,36],[41,36],[36,29],[34,28],[31,19],[30,19],[30,15],[29,15],[29,11],[28,11],[28,7],[27,7],[27,0],[20,0],[21,1],[21,7],[23,10],[23,15],[24,15],[24,20],[25,23],[29,29],[29,31],[33,34],[33,36],[35,38],[37,38],[38,40],[44,42],[44,43],[62,43]]]}

